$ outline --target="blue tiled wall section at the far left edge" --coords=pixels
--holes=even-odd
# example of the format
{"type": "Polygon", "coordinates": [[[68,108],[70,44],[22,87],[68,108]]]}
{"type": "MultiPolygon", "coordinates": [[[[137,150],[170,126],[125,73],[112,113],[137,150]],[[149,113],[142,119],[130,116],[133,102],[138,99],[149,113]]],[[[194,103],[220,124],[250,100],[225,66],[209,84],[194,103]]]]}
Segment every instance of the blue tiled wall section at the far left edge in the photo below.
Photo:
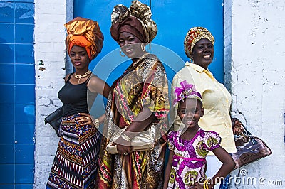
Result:
{"type": "Polygon", "coordinates": [[[0,1],[0,188],[33,188],[33,0],[0,1]]]}

